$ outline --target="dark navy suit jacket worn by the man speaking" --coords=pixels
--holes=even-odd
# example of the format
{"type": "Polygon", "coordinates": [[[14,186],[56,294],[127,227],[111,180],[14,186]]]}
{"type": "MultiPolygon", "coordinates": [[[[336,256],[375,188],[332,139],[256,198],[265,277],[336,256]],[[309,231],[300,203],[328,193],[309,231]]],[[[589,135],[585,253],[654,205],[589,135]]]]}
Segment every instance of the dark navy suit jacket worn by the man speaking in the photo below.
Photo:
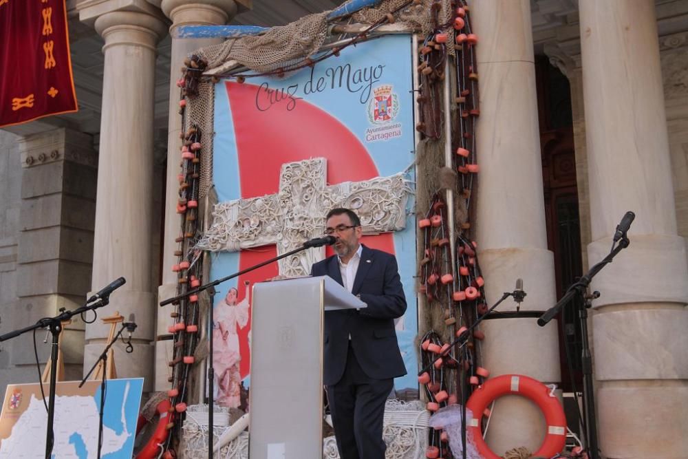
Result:
{"type": "MultiPolygon", "coordinates": [[[[336,255],[314,264],[311,275],[327,275],[343,285],[336,255]]],[[[325,312],[323,383],[334,385],[344,374],[350,336],[356,359],[370,378],[405,375],[394,319],[406,311],[406,297],[394,256],[363,246],[352,294],[367,308],[325,312]]]]}

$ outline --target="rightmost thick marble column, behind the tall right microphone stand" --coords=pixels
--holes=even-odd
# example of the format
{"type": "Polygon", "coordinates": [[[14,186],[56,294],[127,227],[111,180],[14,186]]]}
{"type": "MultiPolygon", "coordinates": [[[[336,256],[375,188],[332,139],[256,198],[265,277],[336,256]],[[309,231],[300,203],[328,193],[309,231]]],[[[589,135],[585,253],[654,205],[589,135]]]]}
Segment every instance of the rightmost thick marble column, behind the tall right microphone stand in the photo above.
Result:
{"type": "Polygon", "coordinates": [[[592,243],[630,247],[594,279],[596,404],[603,456],[688,458],[688,268],[674,189],[652,0],[580,0],[592,243]]]}

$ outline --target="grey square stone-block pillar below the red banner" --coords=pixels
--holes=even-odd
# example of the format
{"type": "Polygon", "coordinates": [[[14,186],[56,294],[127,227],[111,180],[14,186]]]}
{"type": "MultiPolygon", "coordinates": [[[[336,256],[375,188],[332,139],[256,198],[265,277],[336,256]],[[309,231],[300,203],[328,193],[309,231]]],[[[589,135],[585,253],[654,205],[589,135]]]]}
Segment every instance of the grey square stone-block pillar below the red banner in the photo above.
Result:
{"type": "MultiPolygon", "coordinates": [[[[21,183],[10,182],[17,191],[21,188],[21,210],[14,222],[19,227],[17,271],[12,276],[16,279],[17,301],[3,310],[3,325],[7,325],[3,333],[24,328],[42,317],[53,317],[60,308],[74,310],[82,306],[90,288],[93,259],[98,158],[92,137],[62,128],[18,138],[17,144],[21,168],[17,155],[13,175],[21,183]]],[[[4,290],[14,291],[12,284],[3,282],[3,294],[4,290]]],[[[61,349],[66,381],[81,377],[83,330],[84,323],[78,316],[64,328],[61,349]]],[[[39,359],[45,363],[50,345],[41,342],[44,332],[38,336],[39,359]]],[[[4,371],[11,382],[36,381],[31,334],[3,345],[9,351],[3,352],[10,360],[4,371]]]]}

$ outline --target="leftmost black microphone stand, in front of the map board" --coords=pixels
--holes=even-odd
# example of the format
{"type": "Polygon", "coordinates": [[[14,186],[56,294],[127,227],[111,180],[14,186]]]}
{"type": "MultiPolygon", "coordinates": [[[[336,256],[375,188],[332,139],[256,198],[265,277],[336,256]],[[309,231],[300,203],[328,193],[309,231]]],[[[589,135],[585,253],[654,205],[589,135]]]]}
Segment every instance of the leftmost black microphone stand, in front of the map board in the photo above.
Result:
{"type": "Polygon", "coordinates": [[[9,332],[3,334],[0,337],[0,341],[6,341],[14,337],[18,337],[20,334],[25,332],[30,332],[32,330],[37,330],[39,328],[50,328],[50,333],[52,334],[52,347],[50,348],[50,396],[48,398],[47,404],[47,429],[45,434],[45,459],[50,459],[52,456],[52,448],[54,445],[54,432],[53,423],[55,418],[55,391],[57,385],[57,351],[58,351],[58,337],[60,332],[62,332],[62,322],[72,319],[72,317],[77,314],[83,314],[87,311],[96,310],[97,308],[102,308],[106,306],[110,301],[109,293],[103,297],[96,298],[91,304],[88,302],[74,311],[67,311],[65,308],[60,308],[60,314],[55,317],[45,317],[39,320],[34,325],[30,325],[26,328],[21,328],[19,330],[14,330],[14,332],[9,332]]]}

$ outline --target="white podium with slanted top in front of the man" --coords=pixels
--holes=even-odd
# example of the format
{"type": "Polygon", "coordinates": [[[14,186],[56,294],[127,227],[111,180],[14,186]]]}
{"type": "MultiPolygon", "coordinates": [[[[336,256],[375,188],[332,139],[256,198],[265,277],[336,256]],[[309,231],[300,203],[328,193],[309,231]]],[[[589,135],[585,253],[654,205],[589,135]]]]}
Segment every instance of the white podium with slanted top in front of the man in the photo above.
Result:
{"type": "Polygon", "coordinates": [[[323,457],[323,317],[365,308],[330,277],[253,287],[249,441],[251,459],[323,457]]]}

